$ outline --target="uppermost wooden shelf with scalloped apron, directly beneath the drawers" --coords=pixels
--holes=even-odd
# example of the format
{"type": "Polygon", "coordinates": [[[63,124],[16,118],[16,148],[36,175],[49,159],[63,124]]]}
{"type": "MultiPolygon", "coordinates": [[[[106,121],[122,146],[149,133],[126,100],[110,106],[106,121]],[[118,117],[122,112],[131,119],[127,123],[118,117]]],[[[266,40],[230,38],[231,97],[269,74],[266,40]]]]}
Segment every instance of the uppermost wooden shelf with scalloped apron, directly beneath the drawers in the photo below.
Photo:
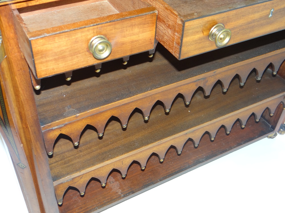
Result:
{"type": "MultiPolygon", "coordinates": [[[[147,117],[157,100],[169,109],[178,93],[189,102],[199,86],[208,95],[217,80],[227,89],[237,73],[240,83],[244,83],[253,68],[259,77],[269,64],[277,71],[285,58],[285,45],[282,39],[271,39],[278,36],[280,39],[280,33],[258,38],[256,43],[262,45],[245,42],[183,62],[158,45],[152,62],[145,57],[142,63],[142,56],[138,55],[133,56],[126,69],[116,69],[116,62],[110,62],[108,65],[112,68],[104,68],[100,76],[93,70],[78,70],[71,85],[63,85],[58,77],[47,78],[41,93],[35,94],[47,152],[52,152],[60,134],[78,142],[88,124],[103,134],[111,116],[127,125],[135,108],[141,109],[143,117],[147,117]],[[155,72],[154,67],[157,67],[155,72]]],[[[281,35],[284,39],[284,34],[281,35]]]]}

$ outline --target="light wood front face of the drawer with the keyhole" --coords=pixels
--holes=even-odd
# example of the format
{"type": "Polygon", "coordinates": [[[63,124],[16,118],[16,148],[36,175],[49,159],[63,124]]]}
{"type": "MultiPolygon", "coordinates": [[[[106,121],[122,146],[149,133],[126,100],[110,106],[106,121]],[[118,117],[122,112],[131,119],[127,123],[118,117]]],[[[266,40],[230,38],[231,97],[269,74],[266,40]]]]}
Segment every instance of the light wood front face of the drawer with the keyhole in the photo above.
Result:
{"type": "Polygon", "coordinates": [[[231,30],[227,45],[276,32],[285,28],[285,1],[274,0],[249,7],[186,21],[180,59],[217,49],[209,32],[218,23],[231,30]],[[272,16],[269,17],[270,11],[272,16]]]}

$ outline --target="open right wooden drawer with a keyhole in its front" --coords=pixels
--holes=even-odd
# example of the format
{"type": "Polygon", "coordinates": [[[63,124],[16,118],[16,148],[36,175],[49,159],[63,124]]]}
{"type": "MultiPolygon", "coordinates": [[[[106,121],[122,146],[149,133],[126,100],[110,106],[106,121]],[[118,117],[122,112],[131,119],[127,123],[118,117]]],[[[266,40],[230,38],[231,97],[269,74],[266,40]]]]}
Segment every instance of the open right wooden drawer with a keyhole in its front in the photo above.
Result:
{"type": "Polygon", "coordinates": [[[219,48],[209,39],[219,23],[231,31],[226,45],[285,28],[284,0],[146,1],[158,10],[157,40],[179,60],[219,48]]]}

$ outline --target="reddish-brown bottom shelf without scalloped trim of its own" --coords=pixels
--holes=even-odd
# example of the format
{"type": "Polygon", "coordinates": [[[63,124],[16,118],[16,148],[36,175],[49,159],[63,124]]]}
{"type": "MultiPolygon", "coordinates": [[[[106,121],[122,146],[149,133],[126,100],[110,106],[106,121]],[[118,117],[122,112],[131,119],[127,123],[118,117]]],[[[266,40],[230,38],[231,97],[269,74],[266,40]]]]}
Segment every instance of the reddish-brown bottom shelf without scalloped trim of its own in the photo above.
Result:
{"type": "Polygon", "coordinates": [[[194,148],[193,142],[189,140],[180,155],[177,154],[174,147],[170,147],[162,163],[159,163],[158,156],[153,154],[150,156],[145,170],[141,170],[139,164],[133,163],[124,179],[119,172],[114,170],[108,177],[104,188],[101,187],[99,181],[90,180],[84,196],[81,196],[76,189],[70,188],[64,195],[63,204],[58,206],[59,211],[61,213],[101,212],[266,137],[274,131],[274,126],[276,126],[282,111],[283,106],[280,104],[276,108],[274,116],[270,117],[267,116],[267,109],[263,112],[258,123],[255,122],[255,117],[252,115],[244,129],[241,129],[239,122],[235,122],[229,135],[225,134],[224,128],[220,128],[213,142],[205,133],[197,148],[194,148]],[[200,151],[198,156],[195,154],[196,149],[200,151]]]}

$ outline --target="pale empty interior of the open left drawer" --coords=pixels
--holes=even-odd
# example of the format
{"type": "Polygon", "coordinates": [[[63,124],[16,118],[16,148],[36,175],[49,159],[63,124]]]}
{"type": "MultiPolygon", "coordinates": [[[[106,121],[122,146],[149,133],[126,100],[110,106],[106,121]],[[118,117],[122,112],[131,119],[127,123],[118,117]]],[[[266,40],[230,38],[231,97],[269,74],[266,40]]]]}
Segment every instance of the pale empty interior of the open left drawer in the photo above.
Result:
{"type": "Polygon", "coordinates": [[[57,6],[54,4],[45,3],[18,9],[29,32],[147,7],[140,0],[124,4],[117,0],[76,0],[61,1],[57,6]]]}

